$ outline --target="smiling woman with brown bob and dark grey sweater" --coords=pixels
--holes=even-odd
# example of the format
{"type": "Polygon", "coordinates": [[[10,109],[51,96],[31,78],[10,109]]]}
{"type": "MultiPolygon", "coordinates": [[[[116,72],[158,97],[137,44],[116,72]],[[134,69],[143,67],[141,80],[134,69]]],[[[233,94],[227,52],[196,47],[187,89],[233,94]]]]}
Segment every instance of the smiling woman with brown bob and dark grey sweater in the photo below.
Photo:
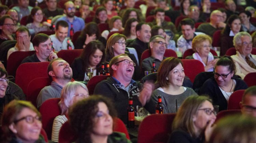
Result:
{"type": "Polygon", "coordinates": [[[162,97],[163,113],[175,113],[177,106],[190,95],[197,95],[188,87],[183,87],[185,73],[182,61],[169,57],[164,59],[159,66],[157,83],[160,87],[153,91],[151,98],[157,104],[158,95],[162,97]]]}

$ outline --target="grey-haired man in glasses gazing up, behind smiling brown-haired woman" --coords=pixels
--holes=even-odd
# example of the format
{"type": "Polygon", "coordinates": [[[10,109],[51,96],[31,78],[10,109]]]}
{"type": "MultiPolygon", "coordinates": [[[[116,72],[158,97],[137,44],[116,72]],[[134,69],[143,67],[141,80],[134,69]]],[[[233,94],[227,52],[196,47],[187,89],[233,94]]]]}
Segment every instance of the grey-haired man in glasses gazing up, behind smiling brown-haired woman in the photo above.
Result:
{"type": "Polygon", "coordinates": [[[156,68],[158,69],[162,60],[166,57],[163,56],[165,54],[166,49],[166,42],[165,38],[163,38],[160,35],[153,36],[150,39],[150,42],[148,44],[148,48],[151,51],[151,56],[148,58],[145,58],[142,61],[142,71],[151,71],[153,67],[153,61],[155,61],[156,68]]]}

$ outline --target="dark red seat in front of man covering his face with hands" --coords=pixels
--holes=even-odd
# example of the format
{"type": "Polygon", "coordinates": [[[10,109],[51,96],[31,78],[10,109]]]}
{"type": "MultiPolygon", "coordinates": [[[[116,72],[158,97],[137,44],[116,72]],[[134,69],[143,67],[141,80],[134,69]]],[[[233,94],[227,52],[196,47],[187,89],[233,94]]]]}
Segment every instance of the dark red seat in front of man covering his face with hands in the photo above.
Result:
{"type": "Polygon", "coordinates": [[[6,70],[9,75],[15,76],[16,70],[24,58],[34,54],[35,51],[16,51],[13,52],[8,60],[6,70]]]}

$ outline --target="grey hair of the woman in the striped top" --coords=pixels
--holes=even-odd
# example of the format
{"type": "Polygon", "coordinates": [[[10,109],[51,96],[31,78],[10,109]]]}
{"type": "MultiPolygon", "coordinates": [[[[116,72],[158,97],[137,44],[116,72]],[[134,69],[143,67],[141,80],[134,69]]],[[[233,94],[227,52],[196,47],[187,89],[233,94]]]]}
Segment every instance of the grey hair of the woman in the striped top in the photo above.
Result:
{"type": "Polygon", "coordinates": [[[78,87],[84,88],[89,93],[85,84],[77,81],[69,82],[62,88],[59,102],[61,115],[64,115],[68,111],[69,107],[72,105],[73,95],[75,95],[75,91],[78,87]]]}

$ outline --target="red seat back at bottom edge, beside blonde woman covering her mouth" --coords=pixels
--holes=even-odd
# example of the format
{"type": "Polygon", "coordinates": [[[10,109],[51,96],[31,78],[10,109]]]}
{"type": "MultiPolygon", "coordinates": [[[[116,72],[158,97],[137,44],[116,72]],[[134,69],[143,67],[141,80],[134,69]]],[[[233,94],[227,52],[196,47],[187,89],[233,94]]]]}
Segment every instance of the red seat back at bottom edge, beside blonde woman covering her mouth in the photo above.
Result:
{"type": "Polygon", "coordinates": [[[140,124],[138,143],[167,142],[171,133],[173,114],[152,114],[140,124]]]}

